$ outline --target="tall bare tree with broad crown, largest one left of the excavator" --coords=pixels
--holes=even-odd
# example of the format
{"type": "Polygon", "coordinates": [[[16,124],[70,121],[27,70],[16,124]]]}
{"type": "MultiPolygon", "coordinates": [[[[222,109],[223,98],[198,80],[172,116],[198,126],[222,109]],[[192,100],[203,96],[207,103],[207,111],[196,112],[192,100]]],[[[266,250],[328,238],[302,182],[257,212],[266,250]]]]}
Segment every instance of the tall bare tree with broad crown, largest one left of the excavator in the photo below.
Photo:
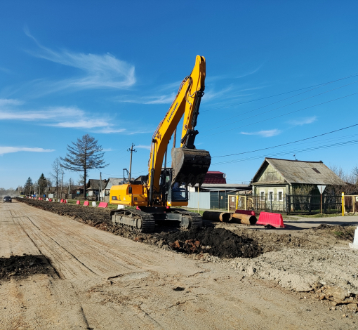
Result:
{"type": "Polygon", "coordinates": [[[60,157],[64,169],[69,171],[82,172],[84,176],[84,198],[86,198],[86,180],[88,171],[91,169],[103,169],[109,164],[105,164],[103,159],[103,148],[98,145],[98,140],[86,134],[82,138],[77,138],[77,142],[67,145],[65,158],[60,157]]]}

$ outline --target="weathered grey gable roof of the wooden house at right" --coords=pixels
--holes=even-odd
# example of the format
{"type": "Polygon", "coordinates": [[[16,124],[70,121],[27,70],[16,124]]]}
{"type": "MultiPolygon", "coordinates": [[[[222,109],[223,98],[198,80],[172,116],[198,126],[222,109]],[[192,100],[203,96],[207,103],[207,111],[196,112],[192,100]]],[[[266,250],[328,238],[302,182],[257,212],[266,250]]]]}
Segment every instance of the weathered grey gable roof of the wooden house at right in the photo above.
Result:
{"type": "MultiPolygon", "coordinates": [[[[270,164],[287,183],[334,185],[344,184],[322,161],[298,161],[290,159],[265,158],[251,184],[257,183],[258,176],[266,164],[270,164]]],[[[264,183],[264,182],[260,182],[264,183]]]]}

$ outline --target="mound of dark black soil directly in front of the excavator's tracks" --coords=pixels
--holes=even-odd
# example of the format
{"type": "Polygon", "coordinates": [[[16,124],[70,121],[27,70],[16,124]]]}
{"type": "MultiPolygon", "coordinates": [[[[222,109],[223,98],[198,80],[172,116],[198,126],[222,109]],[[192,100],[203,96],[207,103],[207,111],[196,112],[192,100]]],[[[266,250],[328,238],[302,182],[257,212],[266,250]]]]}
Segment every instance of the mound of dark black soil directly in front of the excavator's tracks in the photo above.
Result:
{"type": "Polygon", "coordinates": [[[256,258],[263,250],[256,241],[223,228],[192,227],[187,231],[161,233],[172,249],[184,253],[210,253],[219,258],[256,258]]]}

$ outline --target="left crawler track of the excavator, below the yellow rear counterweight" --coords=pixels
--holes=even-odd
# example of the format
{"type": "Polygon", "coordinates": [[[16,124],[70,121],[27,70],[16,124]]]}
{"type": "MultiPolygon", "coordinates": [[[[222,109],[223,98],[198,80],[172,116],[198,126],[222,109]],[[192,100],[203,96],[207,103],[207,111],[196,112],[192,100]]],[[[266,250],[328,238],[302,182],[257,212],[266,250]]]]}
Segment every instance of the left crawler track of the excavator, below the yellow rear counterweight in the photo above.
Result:
{"type": "Polygon", "coordinates": [[[155,220],[151,213],[140,210],[116,210],[110,213],[112,223],[135,232],[154,232],[155,220]]]}

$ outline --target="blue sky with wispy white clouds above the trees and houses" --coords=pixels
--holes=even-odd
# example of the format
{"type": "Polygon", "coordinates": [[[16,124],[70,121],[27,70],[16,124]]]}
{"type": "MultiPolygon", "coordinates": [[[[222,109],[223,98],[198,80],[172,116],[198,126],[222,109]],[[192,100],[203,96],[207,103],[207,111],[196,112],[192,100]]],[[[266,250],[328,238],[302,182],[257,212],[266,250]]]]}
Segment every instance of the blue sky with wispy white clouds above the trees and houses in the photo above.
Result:
{"type": "Polygon", "coordinates": [[[357,12],[357,1],[2,1],[0,187],[48,176],[85,133],[106,150],[104,178],[128,168],[131,143],[133,176],[145,174],[196,55],[206,58],[196,145],[212,171],[241,183],[265,156],[293,154],[350,171],[358,126],[250,151],[358,124],[357,12]]]}

